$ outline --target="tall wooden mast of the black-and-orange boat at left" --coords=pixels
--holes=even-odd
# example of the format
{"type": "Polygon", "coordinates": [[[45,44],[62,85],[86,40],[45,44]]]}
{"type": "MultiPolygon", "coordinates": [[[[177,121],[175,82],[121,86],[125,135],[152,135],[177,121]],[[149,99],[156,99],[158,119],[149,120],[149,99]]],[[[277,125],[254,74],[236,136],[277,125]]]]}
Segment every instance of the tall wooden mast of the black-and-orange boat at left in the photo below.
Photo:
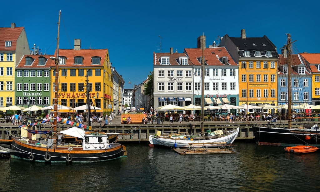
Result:
{"type": "Polygon", "coordinates": [[[59,78],[59,35],[60,35],[60,16],[61,10],[59,11],[59,21],[58,21],[58,37],[57,37],[57,54],[54,59],[55,62],[55,76],[54,76],[54,111],[53,111],[53,147],[57,145],[57,116],[58,116],[58,78],[59,78]]]}

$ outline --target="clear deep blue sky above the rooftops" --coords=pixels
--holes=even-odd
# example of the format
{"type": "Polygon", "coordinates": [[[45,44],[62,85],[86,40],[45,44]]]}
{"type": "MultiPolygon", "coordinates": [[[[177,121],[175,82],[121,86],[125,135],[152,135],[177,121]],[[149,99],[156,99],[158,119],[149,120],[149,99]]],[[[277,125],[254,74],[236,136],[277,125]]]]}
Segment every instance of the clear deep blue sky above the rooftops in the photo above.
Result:
{"type": "MultiPolygon", "coordinates": [[[[279,49],[290,33],[299,52],[320,53],[318,1],[4,1],[0,27],[25,27],[29,47],[35,43],[54,54],[59,10],[60,49],[108,49],[110,62],[125,88],[144,81],[153,70],[153,52],[196,48],[204,33],[206,46],[218,35],[268,38],[279,49]],[[203,8],[201,8],[203,7],[203,8]],[[128,84],[129,79],[131,84],[128,84]]],[[[278,51],[279,52],[279,51],[278,51]]]]}

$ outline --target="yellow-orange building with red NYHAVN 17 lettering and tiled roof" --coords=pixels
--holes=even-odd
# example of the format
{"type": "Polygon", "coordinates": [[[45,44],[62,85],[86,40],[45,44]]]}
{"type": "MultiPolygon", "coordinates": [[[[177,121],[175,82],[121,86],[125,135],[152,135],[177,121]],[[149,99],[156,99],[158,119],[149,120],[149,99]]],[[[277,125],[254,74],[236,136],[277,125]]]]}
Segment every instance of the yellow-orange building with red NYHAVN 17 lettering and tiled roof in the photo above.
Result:
{"type": "MultiPolygon", "coordinates": [[[[75,49],[59,50],[59,59],[58,104],[72,108],[59,112],[83,112],[74,111],[73,108],[87,104],[87,89],[90,105],[101,108],[91,110],[92,114],[102,115],[103,112],[112,110],[113,83],[108,49],[80,49],[80,40],[76,39],[75,49]]],[[[52,60],[52,104],[55,91],[54,75],[55,66],[52,60]]]]}

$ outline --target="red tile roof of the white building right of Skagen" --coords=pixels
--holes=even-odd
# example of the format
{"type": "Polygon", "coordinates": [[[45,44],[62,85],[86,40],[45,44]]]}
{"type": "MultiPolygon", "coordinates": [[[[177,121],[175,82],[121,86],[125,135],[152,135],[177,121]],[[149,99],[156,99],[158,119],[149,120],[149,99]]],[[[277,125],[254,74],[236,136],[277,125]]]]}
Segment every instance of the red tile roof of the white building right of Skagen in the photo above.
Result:
{"type": "MultiPolygon", "coordinates": [[[[190,48],[184,49],[187,53],[188,57],[190,58],[193,65],[201,65],[200,61],[198,60],[199,57],[202,57],[202,49],[200,48],[190,48]]],[[[230,65],[238,65],[230,56],[229,52],[225,47],[213,47],[213,48],[205,48],[204,49],[204,58],[205,62],[208,65],[221,65],[224,66],[221,62],[222,57],[228,57],[228,63],[230,65]]]]}

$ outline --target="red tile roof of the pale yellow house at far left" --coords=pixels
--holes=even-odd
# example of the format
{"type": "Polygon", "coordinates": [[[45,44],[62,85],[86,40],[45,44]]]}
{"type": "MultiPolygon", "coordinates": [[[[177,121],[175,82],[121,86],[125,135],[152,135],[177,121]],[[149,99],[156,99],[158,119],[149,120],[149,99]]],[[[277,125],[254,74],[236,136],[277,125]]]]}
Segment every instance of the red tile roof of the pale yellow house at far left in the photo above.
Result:
{"type": "Polygon", "coordinates": [[[0,50],[13,51],[16,50],[17,40],[24,27],[0,27],[0,50]],[[11,41],[11,47],[5,47],[5,42],[11,41]]]}

